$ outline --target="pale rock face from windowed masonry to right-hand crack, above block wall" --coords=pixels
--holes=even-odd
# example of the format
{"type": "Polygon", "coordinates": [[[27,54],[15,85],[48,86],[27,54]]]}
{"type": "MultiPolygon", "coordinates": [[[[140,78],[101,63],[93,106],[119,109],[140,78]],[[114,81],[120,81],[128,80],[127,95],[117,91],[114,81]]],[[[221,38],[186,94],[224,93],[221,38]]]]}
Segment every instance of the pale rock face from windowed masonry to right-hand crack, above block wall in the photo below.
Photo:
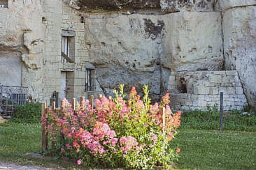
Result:
{"type": "Polygon", "coordinates": [[[164,88],[159,83],[161,68],[220,70],[224,63],[218,13],[88,15],[85,40],[104,91],[119,82],[128,88],[136,82],[159,95],[164,88]]]}

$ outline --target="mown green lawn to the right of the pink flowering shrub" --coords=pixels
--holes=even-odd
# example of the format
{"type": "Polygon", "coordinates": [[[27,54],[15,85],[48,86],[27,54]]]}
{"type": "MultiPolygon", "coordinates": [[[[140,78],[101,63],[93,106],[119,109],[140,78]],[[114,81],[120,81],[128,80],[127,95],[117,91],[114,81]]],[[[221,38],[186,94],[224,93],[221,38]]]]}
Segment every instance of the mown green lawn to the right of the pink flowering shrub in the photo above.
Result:
{"type": "Polygon", "coordinates": [[[256,169],[256,132],[180,130],[178,168],[256,169]]]}

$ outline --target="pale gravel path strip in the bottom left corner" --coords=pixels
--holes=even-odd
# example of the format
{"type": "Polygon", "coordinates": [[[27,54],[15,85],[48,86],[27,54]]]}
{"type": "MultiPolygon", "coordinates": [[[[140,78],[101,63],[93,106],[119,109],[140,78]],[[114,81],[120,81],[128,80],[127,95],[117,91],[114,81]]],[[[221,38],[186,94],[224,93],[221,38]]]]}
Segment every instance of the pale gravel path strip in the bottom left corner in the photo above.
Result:
{"type": "Polygon", "coordinates": [[[4,163],[0,162],[0,170],[8,169],[8,170],[33,170],[33,169],[39,169],[39,170],[54,170],[51,168],[43,168],[43,167],[31,167],[31,166],[24,166],[20,164],[13,164],[13,163],[4,163]]]}

